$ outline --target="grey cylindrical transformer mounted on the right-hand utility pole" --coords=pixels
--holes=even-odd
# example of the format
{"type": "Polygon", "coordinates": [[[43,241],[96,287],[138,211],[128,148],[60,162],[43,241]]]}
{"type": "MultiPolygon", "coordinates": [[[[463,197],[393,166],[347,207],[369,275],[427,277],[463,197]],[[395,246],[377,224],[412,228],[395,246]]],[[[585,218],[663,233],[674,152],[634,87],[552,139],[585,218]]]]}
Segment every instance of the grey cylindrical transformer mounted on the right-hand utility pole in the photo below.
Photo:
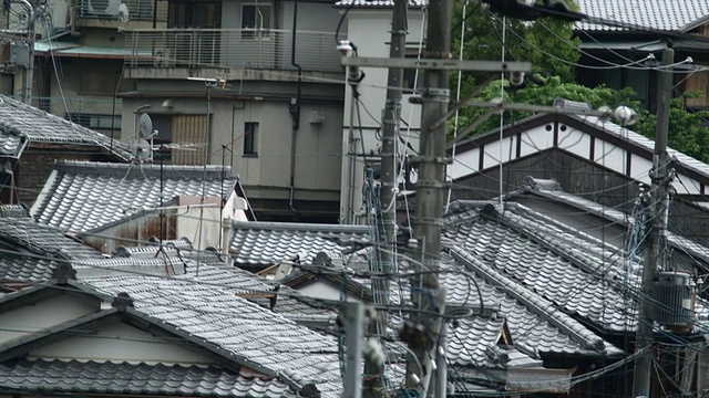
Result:
{"type": "Polygon", "coordinates": [[[687,331],[692,326],[695,284],[684,272],[660,272],[653,286],[656,304],[653,318],[661,326],[687,331]]]}

